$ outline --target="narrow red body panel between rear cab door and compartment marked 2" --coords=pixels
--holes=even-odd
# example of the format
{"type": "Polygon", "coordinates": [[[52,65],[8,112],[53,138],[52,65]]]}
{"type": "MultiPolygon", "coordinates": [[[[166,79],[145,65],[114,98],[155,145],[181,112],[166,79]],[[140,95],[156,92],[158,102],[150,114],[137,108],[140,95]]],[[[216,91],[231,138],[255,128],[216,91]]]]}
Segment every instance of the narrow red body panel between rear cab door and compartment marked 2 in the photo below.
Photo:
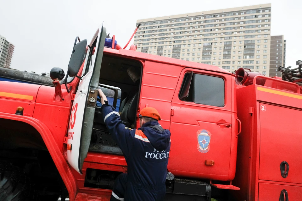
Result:
{"type": "Polygon", "coordinates": [[[236,86],[238,119],[242,123],[242,130],[238,135],[236,175],[232,181],[240,188],[239,191],[231,191],[235,200],[255,200],[258,126],[254,86],[236,86]]]}

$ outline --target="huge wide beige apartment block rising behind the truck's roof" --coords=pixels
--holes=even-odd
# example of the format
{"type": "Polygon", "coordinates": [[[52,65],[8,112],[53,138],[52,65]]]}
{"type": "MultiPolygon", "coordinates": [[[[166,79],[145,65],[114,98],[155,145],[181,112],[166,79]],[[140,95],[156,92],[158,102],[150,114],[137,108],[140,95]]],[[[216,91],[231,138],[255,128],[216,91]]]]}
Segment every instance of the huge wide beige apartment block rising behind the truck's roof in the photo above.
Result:
{"type": "Polygon", "coordinates": [[[137,51],[269,75],[271,4],[139,19],[137,51]]]}

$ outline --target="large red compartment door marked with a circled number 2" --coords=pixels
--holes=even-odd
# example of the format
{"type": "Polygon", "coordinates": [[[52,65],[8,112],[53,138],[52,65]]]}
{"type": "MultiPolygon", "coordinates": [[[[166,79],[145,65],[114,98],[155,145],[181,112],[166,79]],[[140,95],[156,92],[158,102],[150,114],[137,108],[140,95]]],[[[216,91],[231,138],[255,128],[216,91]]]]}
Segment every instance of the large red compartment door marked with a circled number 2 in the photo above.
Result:
{"type": "Polygon", "coordinates": [[[302,183],[301,126],[295,122],[302,111],[259,103],[260,166],[259,179],[302,183]],[[281,115],[281,116],[280,116],[281,115]],[[288,177],[280,171],[282,161],[288,162],[288,177]]]}

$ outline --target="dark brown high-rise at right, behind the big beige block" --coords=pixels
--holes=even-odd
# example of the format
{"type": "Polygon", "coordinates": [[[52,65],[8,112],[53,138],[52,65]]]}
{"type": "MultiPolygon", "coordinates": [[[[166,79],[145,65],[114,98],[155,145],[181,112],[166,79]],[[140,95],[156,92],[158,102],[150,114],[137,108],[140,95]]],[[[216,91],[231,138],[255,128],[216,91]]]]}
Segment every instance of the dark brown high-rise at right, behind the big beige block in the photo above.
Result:
{"type": "Polygon", "coordinates": [[[270,76],[281,77],[281,72],[278,71],[278,66],[285,66],[285,49],[286,40],[284,35],[271,36],[271,56],[270,56],[270,76]]]}

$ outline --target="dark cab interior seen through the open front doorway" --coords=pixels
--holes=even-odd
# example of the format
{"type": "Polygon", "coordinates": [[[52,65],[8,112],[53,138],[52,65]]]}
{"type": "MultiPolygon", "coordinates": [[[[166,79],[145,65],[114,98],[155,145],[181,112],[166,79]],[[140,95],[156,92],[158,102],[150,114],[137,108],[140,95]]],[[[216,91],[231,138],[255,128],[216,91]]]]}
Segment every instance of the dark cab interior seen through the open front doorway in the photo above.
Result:
{"type": "MultiPolygon", "coordinates": [[[[99,89],[103,90],[109,104],[119,111],[128,128],[135,128],[137,121],[142,71],[142,64],[138,61],[103,55],[99,89]]],[[[103,122],[100,99],[95,109],[89,151],[122,155],[103,122]]]]}

